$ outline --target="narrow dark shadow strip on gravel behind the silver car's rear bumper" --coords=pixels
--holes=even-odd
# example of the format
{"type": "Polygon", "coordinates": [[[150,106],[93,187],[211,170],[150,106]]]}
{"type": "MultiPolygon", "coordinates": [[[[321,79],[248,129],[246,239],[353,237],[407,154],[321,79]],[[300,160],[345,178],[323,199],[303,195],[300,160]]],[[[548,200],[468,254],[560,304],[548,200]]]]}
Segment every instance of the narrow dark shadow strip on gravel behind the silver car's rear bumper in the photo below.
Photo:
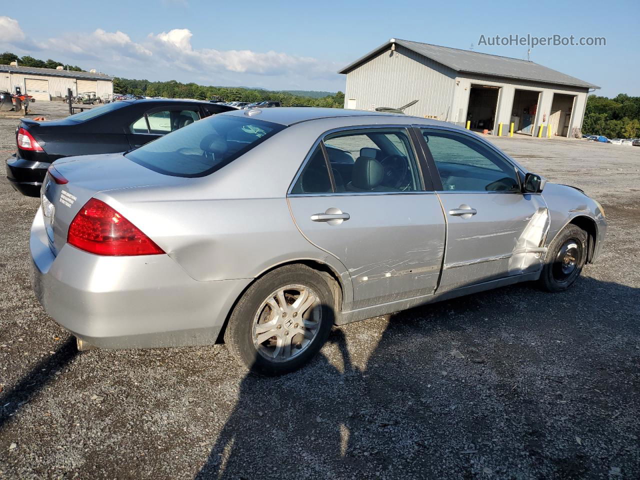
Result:
{"type": "Polygon", "coordinates": [[[10,421],[22,404],[33,399],[47,383],[55,378],[56,369],[68,365],[77,354],[76,338],[69,337],[60,345],[56,353],[34,365],[15,387],[0,394],[0,429],[10,421]]]}

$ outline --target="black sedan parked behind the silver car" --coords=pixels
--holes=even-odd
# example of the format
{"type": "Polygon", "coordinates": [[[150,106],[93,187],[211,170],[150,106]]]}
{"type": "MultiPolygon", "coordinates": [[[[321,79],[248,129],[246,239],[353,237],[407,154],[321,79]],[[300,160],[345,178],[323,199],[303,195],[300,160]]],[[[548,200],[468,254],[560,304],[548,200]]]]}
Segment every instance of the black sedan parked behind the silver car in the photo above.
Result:
{"type": "Polygon", "coordinates": [[[49,165],[61,158],[109,154],[138,148],[205,116],[235,110],[197,100],[122,100],[35,122],[22,118],[15,131],[17,152],[6,161],[6,178],[28,196],[40,196],[49,165]]]}

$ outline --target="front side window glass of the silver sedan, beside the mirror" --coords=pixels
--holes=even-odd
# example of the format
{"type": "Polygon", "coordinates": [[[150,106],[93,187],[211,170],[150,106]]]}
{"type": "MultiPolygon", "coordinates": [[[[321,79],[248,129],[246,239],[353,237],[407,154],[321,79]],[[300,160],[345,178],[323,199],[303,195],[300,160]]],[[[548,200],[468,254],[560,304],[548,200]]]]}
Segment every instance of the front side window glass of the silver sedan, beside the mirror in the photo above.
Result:
{"type": "Polygon", "coordinates": [[[445,191],[520,192],[515,167],[467,134],[423,129],[445,191]]]}

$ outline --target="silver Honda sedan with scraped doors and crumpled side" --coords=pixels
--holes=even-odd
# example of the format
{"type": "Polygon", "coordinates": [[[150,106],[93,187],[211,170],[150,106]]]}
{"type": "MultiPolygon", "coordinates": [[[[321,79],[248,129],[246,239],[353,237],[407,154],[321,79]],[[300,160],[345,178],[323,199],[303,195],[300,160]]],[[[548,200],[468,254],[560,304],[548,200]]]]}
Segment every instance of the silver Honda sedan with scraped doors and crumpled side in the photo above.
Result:
{"type": "Polygon", "coordinates": [[[33,288],[80,349],[213,344],[298,369],[333,324],[537,281],[602,251],[598,202],[445,122],[233,111],[124,154],[60,159],[33,288]]]}

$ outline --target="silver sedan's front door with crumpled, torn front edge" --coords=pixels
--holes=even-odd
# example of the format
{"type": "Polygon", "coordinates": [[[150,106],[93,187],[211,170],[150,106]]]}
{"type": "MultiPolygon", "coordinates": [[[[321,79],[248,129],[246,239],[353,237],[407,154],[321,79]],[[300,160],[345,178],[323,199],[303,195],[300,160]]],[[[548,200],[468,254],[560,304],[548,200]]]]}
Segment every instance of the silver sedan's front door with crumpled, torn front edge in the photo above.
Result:
{"type": "Polygon", "coordinates": [[[438,291],[541,268],[548,210],[541,195],[523,195],[515,166],[472,134],[422,130],[447,219],[438,291]]]}

